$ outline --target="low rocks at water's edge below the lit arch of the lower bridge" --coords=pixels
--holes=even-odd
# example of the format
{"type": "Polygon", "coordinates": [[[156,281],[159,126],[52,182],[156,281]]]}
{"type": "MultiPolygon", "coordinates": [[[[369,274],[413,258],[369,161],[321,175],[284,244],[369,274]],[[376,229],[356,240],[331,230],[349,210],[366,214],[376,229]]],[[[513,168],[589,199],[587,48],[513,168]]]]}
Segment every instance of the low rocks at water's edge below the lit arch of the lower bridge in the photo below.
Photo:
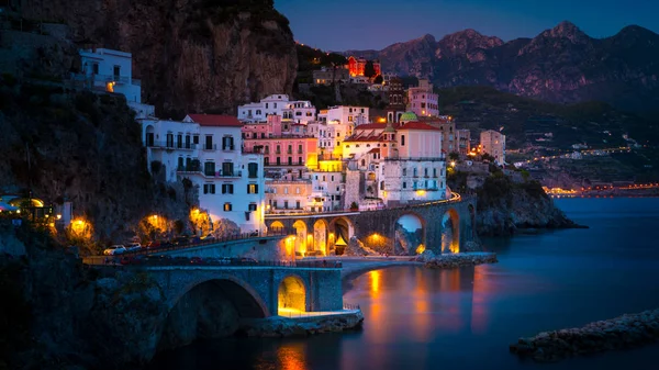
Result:
{"type": "Polygon", "coordinates": [[[361,328],[361,311],[346,311],[323,316],[248,318],[241,322],[237,335],[248,337],[293,337],[320,333],[339,333],[361,328]]]}

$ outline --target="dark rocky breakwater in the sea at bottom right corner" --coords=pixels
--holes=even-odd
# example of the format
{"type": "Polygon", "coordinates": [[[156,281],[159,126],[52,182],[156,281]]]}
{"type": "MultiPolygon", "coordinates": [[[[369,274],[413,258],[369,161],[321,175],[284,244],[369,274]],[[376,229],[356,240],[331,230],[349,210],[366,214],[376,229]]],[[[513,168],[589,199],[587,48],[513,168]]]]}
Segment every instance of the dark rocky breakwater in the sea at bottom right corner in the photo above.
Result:
{"type": "Polygon", "coordinates": [[[520,338],[510,346],[513,354],[538,362],[554,362],[570,356],[638,347],[659,339],[659,310],[625,314],[590,323],[580,328],[543,332],[520,338]]]}

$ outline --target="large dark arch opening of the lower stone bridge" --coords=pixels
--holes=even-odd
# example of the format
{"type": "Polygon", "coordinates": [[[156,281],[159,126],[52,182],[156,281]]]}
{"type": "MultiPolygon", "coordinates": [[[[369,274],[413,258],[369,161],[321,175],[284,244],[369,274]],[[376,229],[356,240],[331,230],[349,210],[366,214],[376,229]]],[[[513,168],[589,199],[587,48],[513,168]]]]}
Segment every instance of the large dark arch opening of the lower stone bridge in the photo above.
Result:
{"type": "Polygon", "coordinates": [[[158,350],[228,336],[238,329],[241,318],[268,316],[260,296],[247,287],[230,279],[212,279],[185,291],[169,310],[158,350]]]}

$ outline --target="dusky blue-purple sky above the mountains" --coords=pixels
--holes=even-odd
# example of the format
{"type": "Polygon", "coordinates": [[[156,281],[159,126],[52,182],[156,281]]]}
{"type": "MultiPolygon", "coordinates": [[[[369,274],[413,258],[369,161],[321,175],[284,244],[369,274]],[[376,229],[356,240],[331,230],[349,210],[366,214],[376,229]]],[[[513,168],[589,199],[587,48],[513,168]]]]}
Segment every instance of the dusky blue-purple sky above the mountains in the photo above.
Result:
{"type": "Polygon", "coordinates": [[[636,24],[659,33],[659,0],[275,0],[295,41],[325,51],[381,49],[473,29],[503,41],[570,21],[592,37],[636,24]]]}

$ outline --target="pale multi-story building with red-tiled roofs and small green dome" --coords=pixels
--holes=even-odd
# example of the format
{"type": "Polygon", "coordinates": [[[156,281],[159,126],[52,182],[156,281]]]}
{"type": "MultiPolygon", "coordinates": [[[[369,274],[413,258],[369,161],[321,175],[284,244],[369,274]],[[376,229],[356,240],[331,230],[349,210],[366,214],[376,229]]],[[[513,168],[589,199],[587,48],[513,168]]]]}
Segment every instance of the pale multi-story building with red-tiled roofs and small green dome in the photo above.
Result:
{"type": "Polygon", "coordinates": [[[386,205],[447,198],[442,143],[442,131],[411,112],[398,124],[355,127],[343,144],[344,158],[350,158],[345,203],[372,197],[386,205]]]}

